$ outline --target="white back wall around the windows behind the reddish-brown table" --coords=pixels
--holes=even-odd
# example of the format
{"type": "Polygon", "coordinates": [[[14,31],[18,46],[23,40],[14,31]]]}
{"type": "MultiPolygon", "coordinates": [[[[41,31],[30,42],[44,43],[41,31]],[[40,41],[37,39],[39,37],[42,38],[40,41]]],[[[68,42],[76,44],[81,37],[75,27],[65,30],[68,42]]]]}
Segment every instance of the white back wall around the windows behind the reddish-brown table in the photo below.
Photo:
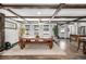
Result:
{"type": "Polygon", "coordinates": [[[34,25],[38,25],[39,27],[37,28],[38,29],[38,36],[41,37],[41,38],[49,38],[49,37],[52,37],[53,36],[53,26],[57,25],[57,24],[26,24],[26,25],[29,25],[30,26],[30,29],[28,30],[28,34],[29,35],[24,35],[23,37],[33,37],[35,38],[36,35],[34,33],[36,33],[35,28],[34,28],[34,25]],[[45,25],[48,25],[49,26],[49,30],[48,31],[45,31],[44,30],[44,27],[45,25]],[[48,35],[45,35],[45,34],[48,34],[48,35]]]}

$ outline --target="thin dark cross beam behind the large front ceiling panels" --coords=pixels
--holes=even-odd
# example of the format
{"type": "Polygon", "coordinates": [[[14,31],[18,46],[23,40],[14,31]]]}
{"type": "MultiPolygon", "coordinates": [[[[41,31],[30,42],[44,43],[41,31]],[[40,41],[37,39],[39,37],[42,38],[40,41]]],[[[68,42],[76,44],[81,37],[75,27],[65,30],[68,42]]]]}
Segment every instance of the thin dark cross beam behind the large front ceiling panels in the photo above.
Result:
{"type": "MultiPolygon", "coordinates": [[[[7,18],[17,18],[17,16],[5,16],[7,18]]],[[[51,18],[51,16],[21,16],[22,18],[51,18]]],[[[54,18],[78,18],[86,16],[54,16],[54,18]]]]}

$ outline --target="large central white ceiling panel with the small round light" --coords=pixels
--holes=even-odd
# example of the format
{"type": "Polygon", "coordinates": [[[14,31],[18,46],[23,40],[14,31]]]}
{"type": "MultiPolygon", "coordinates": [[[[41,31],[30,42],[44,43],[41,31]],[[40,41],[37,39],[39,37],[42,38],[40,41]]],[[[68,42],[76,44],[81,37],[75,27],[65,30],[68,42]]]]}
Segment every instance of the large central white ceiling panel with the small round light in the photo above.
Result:
{"type": "Polygon", "coordinates": [[[11,9],[21,16],[52,16],[54,9],[11,9]],[[38,14],[40,12],[40,14],[38,14]]]}

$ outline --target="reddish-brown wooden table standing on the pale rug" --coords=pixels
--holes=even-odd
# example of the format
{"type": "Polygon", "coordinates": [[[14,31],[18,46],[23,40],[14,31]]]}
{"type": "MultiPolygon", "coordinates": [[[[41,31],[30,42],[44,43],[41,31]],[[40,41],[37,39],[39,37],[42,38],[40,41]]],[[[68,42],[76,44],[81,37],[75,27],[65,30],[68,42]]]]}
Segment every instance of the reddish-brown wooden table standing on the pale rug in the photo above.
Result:
{"type": "Polygon", "coordinates": [[[49,49],[52,49],[53,46],[52,38],[20,38],[19,40],[21,49],[24,49],[25,46],[29,43],[45,43],[49,47],[49,49]]]}

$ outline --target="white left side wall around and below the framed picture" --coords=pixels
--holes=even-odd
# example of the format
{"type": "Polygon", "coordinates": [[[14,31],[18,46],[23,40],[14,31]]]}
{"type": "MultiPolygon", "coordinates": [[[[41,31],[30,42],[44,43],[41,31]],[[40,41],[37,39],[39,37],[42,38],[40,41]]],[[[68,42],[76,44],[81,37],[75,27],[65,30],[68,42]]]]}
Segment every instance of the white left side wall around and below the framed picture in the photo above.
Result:
{"type": "Polygon", "coordinates": [[[13,22],[17,24],[17,28],[16,29],[9,29],[5,28],[5,41],[9,41],[11,43],[15,43],[19,41],[19,28],[20,28],[20,23],[14,22],[14,21],[10,21],[9,22],[13,22]]]}

